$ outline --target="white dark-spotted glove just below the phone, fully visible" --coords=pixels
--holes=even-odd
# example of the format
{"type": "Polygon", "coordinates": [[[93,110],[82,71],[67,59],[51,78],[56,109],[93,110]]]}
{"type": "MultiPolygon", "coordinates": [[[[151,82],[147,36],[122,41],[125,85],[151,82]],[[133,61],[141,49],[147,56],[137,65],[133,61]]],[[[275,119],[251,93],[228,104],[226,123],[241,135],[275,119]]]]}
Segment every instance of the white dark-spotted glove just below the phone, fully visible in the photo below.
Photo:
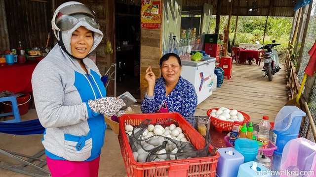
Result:
{"type": "Polygon", "coordinates": [[[88,105],[92,111],[106,116],[125,114],[125,111],[119,111],[121,107],[125,106],[125,103],[122,99],[117,99],[116,97],[104,97],[96,100],[89,100],[88,105]]]}

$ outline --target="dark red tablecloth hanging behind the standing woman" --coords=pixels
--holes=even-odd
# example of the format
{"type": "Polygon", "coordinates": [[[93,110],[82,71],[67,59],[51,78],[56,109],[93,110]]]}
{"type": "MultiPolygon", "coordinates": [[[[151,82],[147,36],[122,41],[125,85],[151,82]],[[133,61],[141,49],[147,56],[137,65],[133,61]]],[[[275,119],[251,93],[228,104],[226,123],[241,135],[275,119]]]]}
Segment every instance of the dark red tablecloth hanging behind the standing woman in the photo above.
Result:
{"type": "Polygon", "coordinates": [[[13,93],[32,91],[32,73],[38,61],[28,60],[25,63],[8,65],[0,64],[0,91],[8,90],[13,93]]]}

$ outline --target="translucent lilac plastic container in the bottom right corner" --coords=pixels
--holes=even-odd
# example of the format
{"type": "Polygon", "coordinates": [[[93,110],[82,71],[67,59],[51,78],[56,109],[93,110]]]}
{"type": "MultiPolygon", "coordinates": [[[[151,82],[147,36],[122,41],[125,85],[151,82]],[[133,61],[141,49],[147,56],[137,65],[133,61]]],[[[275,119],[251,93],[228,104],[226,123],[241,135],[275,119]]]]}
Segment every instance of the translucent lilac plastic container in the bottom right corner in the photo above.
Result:
{"type": "MultiPolygon", "coordinates": [[[[305,138],[289,141],[283,150],[280,171],[295,171],[296,177],[316,176],[316,144],[305,138]]],[[[293,172],[291,172],[293,173],[293,172]]],[[[280,175],[280,177],[292,177],[280,175]]]]}

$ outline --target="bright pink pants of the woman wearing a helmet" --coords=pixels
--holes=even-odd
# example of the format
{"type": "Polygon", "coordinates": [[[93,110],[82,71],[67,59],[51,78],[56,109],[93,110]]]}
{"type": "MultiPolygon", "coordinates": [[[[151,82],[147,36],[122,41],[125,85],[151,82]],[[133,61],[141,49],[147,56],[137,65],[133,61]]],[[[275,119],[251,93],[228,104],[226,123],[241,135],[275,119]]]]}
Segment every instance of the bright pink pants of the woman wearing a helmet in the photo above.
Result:
{"type": "Polygon", "coordinates": [[[52,177],[98,177],[100,156],[88,162],[54,160],[47,157],[52,177]]]}

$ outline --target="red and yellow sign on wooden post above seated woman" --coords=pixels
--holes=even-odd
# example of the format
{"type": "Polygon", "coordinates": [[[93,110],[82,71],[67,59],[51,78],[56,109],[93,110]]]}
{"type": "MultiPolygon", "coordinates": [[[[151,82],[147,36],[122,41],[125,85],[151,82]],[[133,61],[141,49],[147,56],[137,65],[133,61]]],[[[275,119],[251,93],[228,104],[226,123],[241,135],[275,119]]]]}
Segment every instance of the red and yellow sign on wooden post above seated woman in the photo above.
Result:
{"type": "Polygon", "coordinates": [[[159,29],[161,24],[161,0],[142,0],[141,28],[159,29]]]}

